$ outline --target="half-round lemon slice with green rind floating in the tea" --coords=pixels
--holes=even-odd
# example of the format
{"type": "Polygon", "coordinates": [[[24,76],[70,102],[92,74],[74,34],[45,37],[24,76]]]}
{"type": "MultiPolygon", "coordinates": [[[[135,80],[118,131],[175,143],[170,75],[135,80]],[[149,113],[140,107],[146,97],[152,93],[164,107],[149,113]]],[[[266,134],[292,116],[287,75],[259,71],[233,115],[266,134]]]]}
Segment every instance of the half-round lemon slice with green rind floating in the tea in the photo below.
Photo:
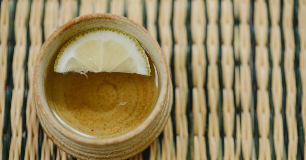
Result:
{"type": "Polygon", "coordinates": [[[95,28],[71,37],[61,48],[54,71],[123,72],[150,75],[144,49],[135,37],[118,29],[95,28]]]}

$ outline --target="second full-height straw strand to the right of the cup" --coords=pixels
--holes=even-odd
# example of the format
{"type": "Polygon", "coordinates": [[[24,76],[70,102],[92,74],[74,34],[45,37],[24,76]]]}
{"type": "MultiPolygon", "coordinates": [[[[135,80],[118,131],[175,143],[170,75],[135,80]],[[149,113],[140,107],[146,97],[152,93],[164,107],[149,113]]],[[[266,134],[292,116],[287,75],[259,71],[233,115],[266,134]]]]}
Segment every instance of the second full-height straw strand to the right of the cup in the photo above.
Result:
{"type": "MultiPolygon", "coordinates": [[[[200,0],[191,2],[191,34],[192,34],[192,114],[193,114],[193,159],[207,159],[206,155],[206,100],[204,79],[206,71],[205,56],[205,4],[200,0]],[[200,16],[199,16],[200,15],[200,16]]],[[[192,136],[192,135],[191,135],[192,136]]]]}

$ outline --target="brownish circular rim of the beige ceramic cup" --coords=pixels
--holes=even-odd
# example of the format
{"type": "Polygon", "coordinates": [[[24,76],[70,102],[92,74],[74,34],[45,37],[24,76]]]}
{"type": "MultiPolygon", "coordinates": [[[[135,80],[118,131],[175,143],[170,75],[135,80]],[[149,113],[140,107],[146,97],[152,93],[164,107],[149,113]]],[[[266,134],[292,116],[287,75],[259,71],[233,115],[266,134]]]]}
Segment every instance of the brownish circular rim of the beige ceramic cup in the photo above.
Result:
{"type": "MultiPolygon", "coordinates": [[[[152,59],[153,60],[153,59],[152,59]]],[[[154,60],[153,60],[154,61],[154,60]]],[[[40,110],[42,116],[47,120],[47,122],[49,124],[51,124],[51,126],[59,132],[60,135],[63,135],[65,138],[73,141],[73,142],[77,142],[77,143],[82,143],[85,145],[91,145],[91,146],[105,146],[105,145],[113,145],[113,144],[118,144],[118,143],[122,143],[125,142],[129,139],[132,139],[133,137],[139,135],[142,131],[145,130],[145,128],[147,128],[153,121],[154,119],[156,119],[158,117],[158,114],[162,111],[162,107],[164,102],[166,101],[166,97],[167,97],[167,93],[168,93],[168,86],[169,86],[169,73],[168,73],[168,67],[167,67],[167,63],[166,63],[166,58],[165,55],[163,54],[158,42],[155,40],[155,38],[153,38],[153,36],[151,36],[149,34],[149,32],[141,25],[139,25],[138,23],[123,17],[123,16],[119,16],[116,14],[111,14],[111,13],[92,13],[92,14],[87,14],[87,15],[83,15],[83,16],[79,16],[76,18],[71,19],[70,21],[66,22],[64,25],[60,26],[58,29],[56,29],[51,36],[49,36],[45,42],[43,43],[39,54],[37,55],[37,58],[35,60],[35,67],[34,67],[34,73],[33,73],[33,90],[34,90],[34,94],[35,94],[35,101],[36,101],[36,108],[40,110]],[[79,24],[83,21],[90,21],[93,19],[111,19],[111,20],[119,20],[119,21],[123,21],[124,23],[128,24],[128,25],[132,25],[133,27],[135,27],[136,29],[139,30],[139,32],[141,32],[141,34],[143,34],[145,36],[146,39],[149,39],[149,41],[152,43],[152,45],[154,45],[154,47],[156,48],[156,56],[158,57],[158,59],[160,59],[160,74],[163,74],[163,79],[160,81],[160,90],[159,90],[159,95],[158,95],[158,99],[156,101],[156,104],[153,108],[153,110],[151,111],[151,113],[149,114],[149,116],[147,116],[147,118],[141,122],[136,128],[134,128],[131,131],[128,131],[122,135],[119,136],[115,136],[115,137],[111,137],[111,138],[106,138],[106,139],[99,139],[99,138],[90,138],[90,137],[85,137],[85,136],[80,136],[77,135],[71,131],[69,131],[68,129],[65,129],[61,124],[59,124],[59,122],[56,122],[56,118],[53,115],[48,114],[47,109],[49,108],[48,105],[44,105],[43,101],[46,101],[45,97],[43,96],[44,94],[39,91],[39,88],[43,87],[42,85],[39,86],[38,81],[40,77],[43,77],[42,74],[40,74],[40,65],[42,63],[43,60],[43,56],[46,54],[46,49],[49,47],[50,44],[52,44],[52,41],[54,39],[56,39],[57,36],[61,35],[62,32],[64,32],[65,30],[69,29],[71,26],[79,24]]],[[[50,110],[50,109],[49,109],[50,110]]],[[[37,111],[38,112],[38,111],[37,111]]],[[[41,121],[40,117],[38,116],[39,121],[41,121]]],[[[42,125],[42,128],[44,131],[45,128],[42,125]]],[[[50,132],[46,132],[48,137],[50,137],[50,139],[52,141],[54,141],[53,139],[53,135],[50,132]]]]}

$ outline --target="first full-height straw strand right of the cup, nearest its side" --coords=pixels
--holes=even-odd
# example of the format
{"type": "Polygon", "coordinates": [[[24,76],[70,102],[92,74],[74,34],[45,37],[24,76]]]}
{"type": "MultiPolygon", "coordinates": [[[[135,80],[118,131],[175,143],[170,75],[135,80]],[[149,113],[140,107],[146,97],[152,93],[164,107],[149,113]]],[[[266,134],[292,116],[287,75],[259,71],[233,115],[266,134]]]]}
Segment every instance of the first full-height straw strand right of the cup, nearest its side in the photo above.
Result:
{"type": "Polygon", "coordinates": [[[185,19],[187,14],[187,2],[175,0],[173,11],[174,32],[174,71],[175,71],[175,118],[176,118],[176,158],[187,158],[188,126],[186,117],[187,107],[187,71],[186,71],[186,48],[187,29],[185,19]]]}

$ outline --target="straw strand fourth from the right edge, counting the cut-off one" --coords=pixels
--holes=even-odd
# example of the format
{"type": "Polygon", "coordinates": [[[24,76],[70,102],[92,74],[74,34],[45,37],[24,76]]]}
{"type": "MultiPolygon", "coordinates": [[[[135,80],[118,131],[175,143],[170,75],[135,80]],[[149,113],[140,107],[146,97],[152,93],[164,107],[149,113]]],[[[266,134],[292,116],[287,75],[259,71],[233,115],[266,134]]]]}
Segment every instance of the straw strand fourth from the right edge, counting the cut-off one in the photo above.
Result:
{"type": "Polygon", "coordinates": [[[255,67],[257,78],[256,112],[259,130],[259,159],[271,159],[269,141],[270,105],[268,95],[269,57],[267,49],[267,5],[263,0],[254,2],[255,67]]]}

